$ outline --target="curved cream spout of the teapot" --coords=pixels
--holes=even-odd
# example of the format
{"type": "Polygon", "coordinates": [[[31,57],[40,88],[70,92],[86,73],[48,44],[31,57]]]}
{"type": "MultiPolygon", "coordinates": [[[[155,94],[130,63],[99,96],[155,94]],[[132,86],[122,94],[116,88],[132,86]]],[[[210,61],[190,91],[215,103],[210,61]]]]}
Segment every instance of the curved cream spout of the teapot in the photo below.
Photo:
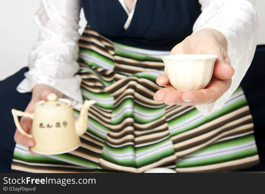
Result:
{"type": "Polygon", "coordinates": [[[90,108],[90,106],[92,106],[95,103],[96,103],[95,100],[85,100],[83,107],[80,111],[80,115],[79,115],[78,119],[76,119],[76,122],[75,122],[76,132],[77,132],[78,136],[81,136],[86,132],[87,123],[88,123],[87,112],[88,112],[88,109],[90,108]]]}

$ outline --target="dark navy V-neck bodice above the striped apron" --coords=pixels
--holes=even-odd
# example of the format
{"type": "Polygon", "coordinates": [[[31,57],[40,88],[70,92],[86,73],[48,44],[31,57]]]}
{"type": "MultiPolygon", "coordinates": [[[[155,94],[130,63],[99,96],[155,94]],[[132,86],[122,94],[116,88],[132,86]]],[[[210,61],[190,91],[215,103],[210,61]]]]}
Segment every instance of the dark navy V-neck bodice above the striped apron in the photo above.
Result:
{"type": "Polygon", "coordinates": [[[170,51],[192,33],[201,14],[198,0],[138,0],[132,21],[118,0],[81,0],[88,25],[121,44],[170,51]]]}

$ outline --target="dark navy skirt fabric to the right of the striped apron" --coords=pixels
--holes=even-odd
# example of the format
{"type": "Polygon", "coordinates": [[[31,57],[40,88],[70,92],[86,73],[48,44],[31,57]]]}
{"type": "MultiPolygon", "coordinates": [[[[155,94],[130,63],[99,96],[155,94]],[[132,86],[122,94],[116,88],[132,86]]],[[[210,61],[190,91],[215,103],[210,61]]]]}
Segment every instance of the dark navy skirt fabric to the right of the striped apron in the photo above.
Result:
{"type": "Polygon", "coordinates": [[[258,45],[251,66],[240,84],[253,116],[254,136],[265,169],[265,45],[258,45]]]}

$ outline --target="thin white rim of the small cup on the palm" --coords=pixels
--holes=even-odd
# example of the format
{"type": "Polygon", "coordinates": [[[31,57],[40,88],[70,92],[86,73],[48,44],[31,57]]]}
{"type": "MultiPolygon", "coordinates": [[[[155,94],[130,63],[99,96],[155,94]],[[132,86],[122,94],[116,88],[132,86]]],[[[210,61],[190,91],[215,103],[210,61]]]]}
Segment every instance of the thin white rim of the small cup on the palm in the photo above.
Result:
{"type": "Polygon", "coordinates": [[[205,60],[205,59],[217,59],[217,55],[213,54],[171,54],[161,59],[171,59],[171,60],[205,60]]]}

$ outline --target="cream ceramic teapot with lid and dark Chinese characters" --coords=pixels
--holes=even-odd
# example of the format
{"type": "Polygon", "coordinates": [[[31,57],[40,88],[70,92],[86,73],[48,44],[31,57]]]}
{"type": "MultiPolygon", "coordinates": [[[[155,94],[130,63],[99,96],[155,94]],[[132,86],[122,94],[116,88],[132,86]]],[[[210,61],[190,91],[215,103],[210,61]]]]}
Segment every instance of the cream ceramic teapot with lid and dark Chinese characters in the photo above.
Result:
{"type": "Polygon", "coordinates": [[[35,140],[31,149],[39,154],[61,154],[75,150],[80,146],[79,136],[87,130],[88,109],[95,100],[86,100],[75,119],[70,100],[59,98],[56,94],[48,94],[48,101],[39,101],[34,113],[12,109],[15,125],[20,133],[35,140]],[[18,116],[33,119],[32,134],[28,134],[20,126],[18,116]]]}

